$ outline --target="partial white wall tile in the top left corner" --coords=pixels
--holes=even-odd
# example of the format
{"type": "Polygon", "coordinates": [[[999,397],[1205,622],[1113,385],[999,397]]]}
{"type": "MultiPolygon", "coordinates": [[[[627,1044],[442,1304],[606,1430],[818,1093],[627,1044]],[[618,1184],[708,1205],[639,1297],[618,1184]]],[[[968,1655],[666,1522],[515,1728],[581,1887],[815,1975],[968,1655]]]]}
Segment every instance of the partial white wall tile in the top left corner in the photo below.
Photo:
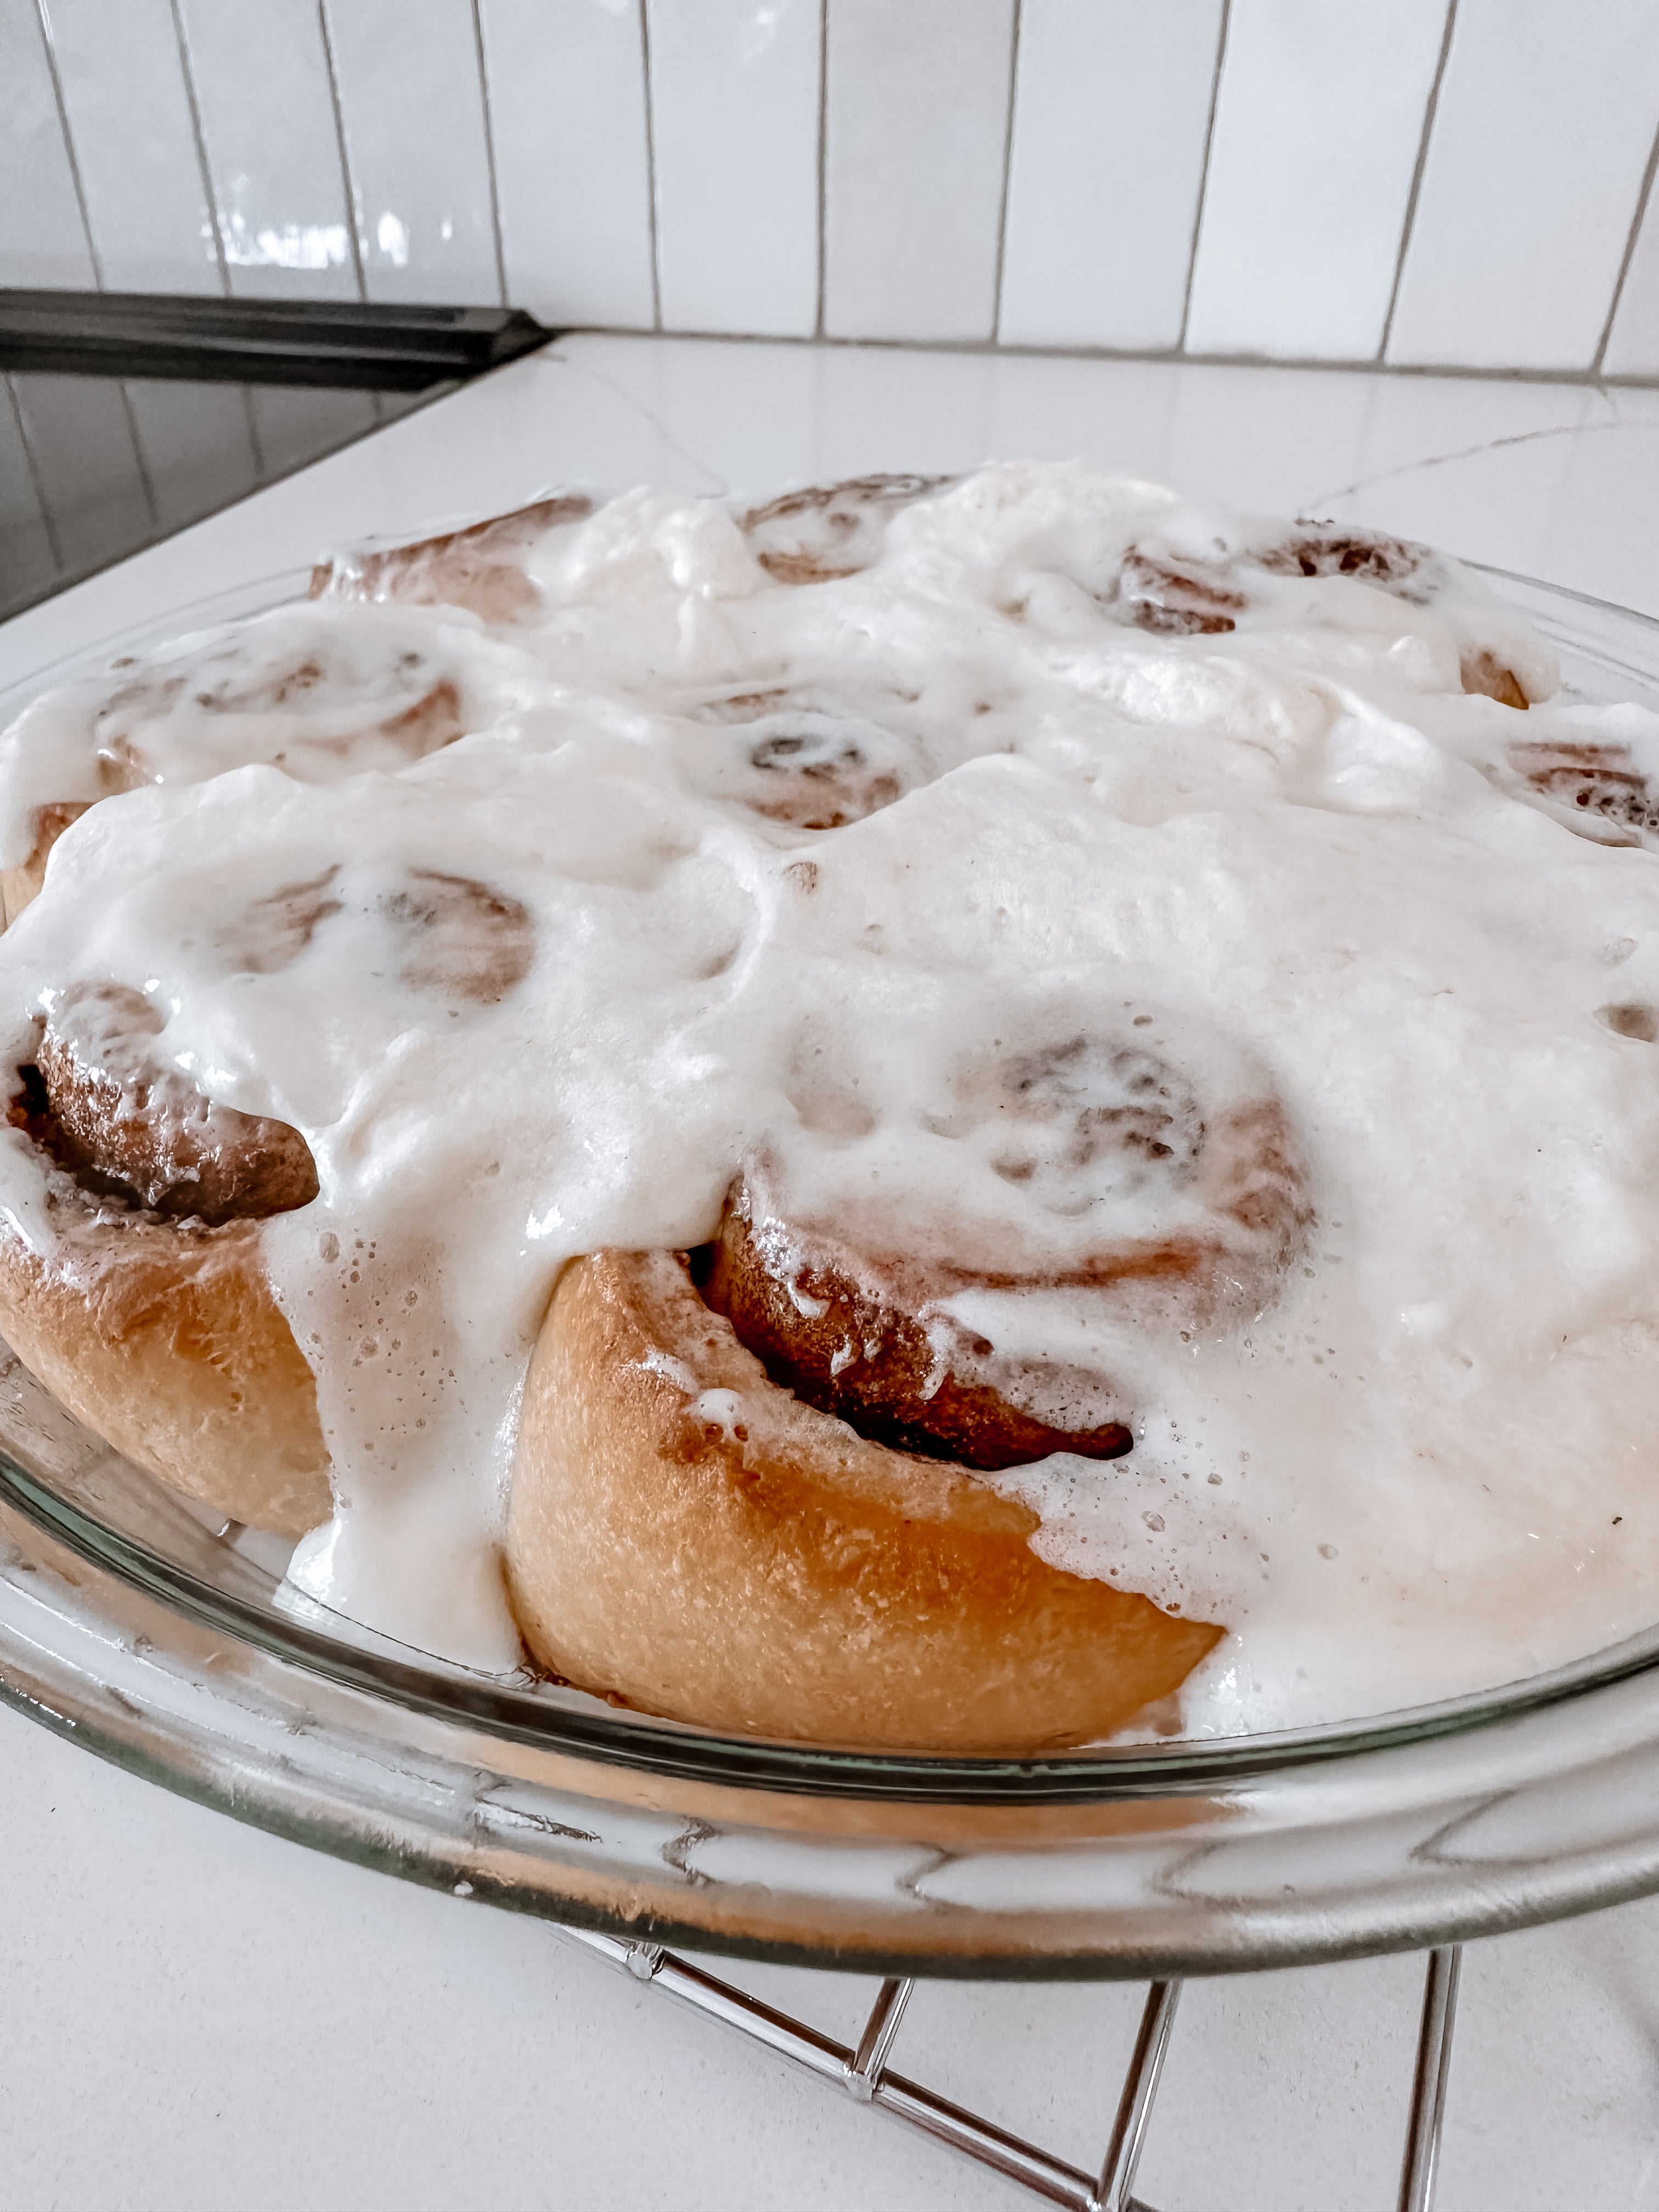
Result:
{"type": "Polygon", "coordinates": [[[0,283],[97,283],[33,0],[0,0],[0,283]]]}

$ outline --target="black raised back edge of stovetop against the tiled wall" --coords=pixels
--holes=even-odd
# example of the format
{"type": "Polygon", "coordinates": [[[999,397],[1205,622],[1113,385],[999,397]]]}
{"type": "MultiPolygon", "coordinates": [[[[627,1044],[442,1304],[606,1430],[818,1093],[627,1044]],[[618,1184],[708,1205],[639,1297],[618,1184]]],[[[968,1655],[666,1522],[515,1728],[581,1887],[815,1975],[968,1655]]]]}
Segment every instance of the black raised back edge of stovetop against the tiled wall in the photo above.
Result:
{"type": "Polygon", "coordinates": [[[546,345],[522,307],[0,288],[0,369],[420,392],[546,345]]]}

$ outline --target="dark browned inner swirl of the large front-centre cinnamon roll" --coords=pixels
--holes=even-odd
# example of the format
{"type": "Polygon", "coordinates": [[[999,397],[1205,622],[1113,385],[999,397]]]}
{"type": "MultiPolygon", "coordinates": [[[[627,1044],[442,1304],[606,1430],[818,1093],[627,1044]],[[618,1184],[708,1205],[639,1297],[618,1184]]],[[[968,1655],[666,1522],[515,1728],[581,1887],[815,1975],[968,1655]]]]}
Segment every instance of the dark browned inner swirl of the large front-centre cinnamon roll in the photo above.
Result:
{"type": "MultiPolygon", "coordinates": [[[[774,1383],[874,1442],[973,1469],[1053,1451],[1117,1458],[1133,1433],[1117,1411],[1102,1418],[1110,1389],[1099,1376],[1006,1358],[945,1301],[1079,1290],[1130,1301],[1166,1329],[1225,1327],[1272,1303],[1312,1223],[1283,1108],[1245,1095],[1206,1110],[1159,1053],[1088,1037],[982,1055],[953,1104],[964,1121],[993,1115],[991,1166],[1009,1183],[1093,1175],[1161,1197],[1181,1225],[1106,1239],[1066,1263],[1013,1248],[973,1256],[949,1225],[905,1250],[869,1210],[838,1223],[796,1217],[759,1161],[734,1183],[714,1241],[692,1256],[703,1301],[774,1383]],[[1192,1194],[1201,1203],[1181,1208],[1192,1194]],[[1060,1407],[1075,1411],[1057,1418],[1060,1407]]],[[[940,1126],[951,1126],[949,1113],[940,1126]]]]}

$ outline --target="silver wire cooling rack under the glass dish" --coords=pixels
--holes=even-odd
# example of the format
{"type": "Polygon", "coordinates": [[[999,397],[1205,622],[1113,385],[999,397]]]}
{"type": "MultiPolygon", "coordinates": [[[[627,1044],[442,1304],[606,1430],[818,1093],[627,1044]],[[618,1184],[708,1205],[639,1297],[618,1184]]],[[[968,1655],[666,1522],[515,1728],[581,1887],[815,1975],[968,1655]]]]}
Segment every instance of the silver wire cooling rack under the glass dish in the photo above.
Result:
{"type": "MultiPolygon", "coordinates": [[[[905,2017],[911,1982],[883,1982],[869,2008],[856,2046],[838,2044],[805,2020],[779,2013],[748,1991],[732,1989],[730,1982],[703,1973],[690,1960],[661,1944],[622,1942],[615,1936],[593,1936],[586,1929],[560,1929],[568,1942],[577,1942],[599,1958],[611,1960],[637,1982],[648,1982],[666,1995],[690,2004],[708,2020],[721,2020],[728,2028],[739,2028],[765,2051],[805,2066],[830,2088],[843,2090],[858,2104],[874,2106],[891,2119],[916,2128],[947,2150],[956,2150],[978,2166],[989,2166],[1026,2197],[1042,2203],[1066,2205],[1068,2212],[1155,2212],[1152,2205],[1135,2197],[1135,2172],[1152,2124],[1152,2106],[1164,2073],[1164,2059],[1175,2033],[1175,2011],[1181,2002],[1181,1982],[1150,1982],[1146,2008],[1141,2013],[1135,2051],[1124,2075],[1124,2090],[1117,2099],[1117,2117],[1106,2141],[1106,2157],[1097,2174],[1086,2174],[1079,2166],[1053,2157],[1037,2143],[1026,2143],[1009,2135],[978,2112],[949,2104],[920,2081],[891,2073],[887,2059],[905,2017]]],[[[1418,2033],[1418,2066],[1411,2081],[1411,2106],[1405,2130],[1405,2154],[1400,2161],[1398,2212],[1431,2212],[1436,2166],[1440,2159],[1440,2128],[1447,2110],[1447,2079],[1451,2075],[1451,2037],[1458,2022],[1458,1973],[1462,1969],[1462,1947],[1449,1944],[1427,1953],[1422,1984],[1422,2028],[1418,2033]]],[[[1179,2212],[1179,2208],[1168,2208],[1179,2212]]]]}

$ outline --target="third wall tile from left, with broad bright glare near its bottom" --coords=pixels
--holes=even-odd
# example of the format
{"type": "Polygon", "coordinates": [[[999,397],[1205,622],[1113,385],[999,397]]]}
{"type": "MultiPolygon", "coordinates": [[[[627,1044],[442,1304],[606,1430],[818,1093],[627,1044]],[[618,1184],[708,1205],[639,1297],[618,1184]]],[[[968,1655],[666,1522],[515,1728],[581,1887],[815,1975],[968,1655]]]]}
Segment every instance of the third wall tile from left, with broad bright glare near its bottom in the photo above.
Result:
{"type": "Polygon", "coordinates": [[[230,290],[356,299],[316,0],[181,0],[230,290]]]}

